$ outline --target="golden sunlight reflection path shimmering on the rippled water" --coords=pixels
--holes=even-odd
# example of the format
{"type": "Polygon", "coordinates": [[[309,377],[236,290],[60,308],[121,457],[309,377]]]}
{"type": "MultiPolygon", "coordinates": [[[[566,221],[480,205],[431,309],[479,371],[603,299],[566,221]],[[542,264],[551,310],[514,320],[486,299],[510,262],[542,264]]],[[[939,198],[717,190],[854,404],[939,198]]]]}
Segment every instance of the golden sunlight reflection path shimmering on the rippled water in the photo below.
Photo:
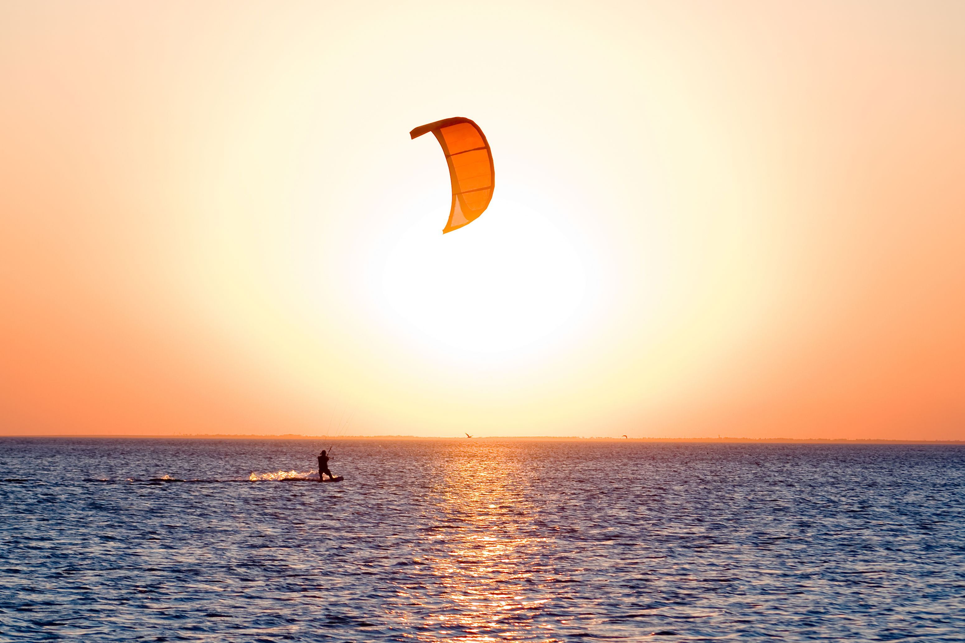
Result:
{"type": "Polygon", "coordinates": [[[551,627],[537,626],[531,616],[551,600],[532,580],[547,539],[532,536],[537,508],[518,484],[520,463],[499,459],[496,470],[485,456],[491,454],[447,462],[444,482],[435,489],[439,502],[430,528],[438,535],[431,538],[444,543],[433,549],[449,555],[423,561],[443,579],[434,597],[442,608],[419,624],[432,630],[419,640],[534,640],[533,628],[551,627]]]}

